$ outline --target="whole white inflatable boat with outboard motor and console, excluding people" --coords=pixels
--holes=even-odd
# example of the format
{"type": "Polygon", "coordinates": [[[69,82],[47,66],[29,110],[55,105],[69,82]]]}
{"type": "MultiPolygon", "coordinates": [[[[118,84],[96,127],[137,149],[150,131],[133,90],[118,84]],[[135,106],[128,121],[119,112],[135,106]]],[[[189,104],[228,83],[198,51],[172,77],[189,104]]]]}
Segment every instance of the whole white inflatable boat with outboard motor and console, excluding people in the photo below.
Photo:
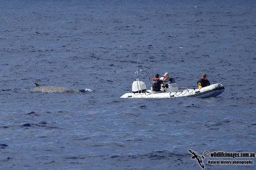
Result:
{"type": "MultiPolygon", "coordinates": [[[[147,90],[147,86],[143,81],[140,81],[138,78],[138,73],[145,72],[148,76],[146,70],[140,69],[136,71],[136,81],[132,83],[132,93],[126,93],[120,98],[125,99],[141,99],[141,98],[173,98],[173,97],[216,97],[224,92],[225,88],[221,83],[215,83],[207,87],[202,87],[200,89],[178,89],[178,85],[175,82],[174,78],[168,78],[168,81],[162,85],[160,92],[152,92],[147,90]]],[[[150,77],[148,76],[150,80],[150,77]]],[[[151,81],[150,81],[151,83],[151,81]]]]}

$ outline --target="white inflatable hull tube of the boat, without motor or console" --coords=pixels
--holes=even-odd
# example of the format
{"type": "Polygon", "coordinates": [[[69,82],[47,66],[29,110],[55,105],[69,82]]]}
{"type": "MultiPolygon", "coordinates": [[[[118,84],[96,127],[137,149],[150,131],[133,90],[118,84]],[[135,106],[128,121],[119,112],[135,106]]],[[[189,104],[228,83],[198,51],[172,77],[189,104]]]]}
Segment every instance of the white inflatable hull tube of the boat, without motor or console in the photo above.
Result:
{"type": "Polygon", "coordinates": [[[213,85],[209,85],[207,87],[203,87],[201,89],[186,89],[179,92],[161,92],[157,94],[152,94],[151,90],[147,90],[147,92],[143,93],[126,93],[120,98],[124,99],[141,99],[141,98],[173,98],[173,97],[199,97],[199,98],[207,98],[207,97],[216,97],[224,92],[225,88],[221,83],[216,83],[213,85]]]}

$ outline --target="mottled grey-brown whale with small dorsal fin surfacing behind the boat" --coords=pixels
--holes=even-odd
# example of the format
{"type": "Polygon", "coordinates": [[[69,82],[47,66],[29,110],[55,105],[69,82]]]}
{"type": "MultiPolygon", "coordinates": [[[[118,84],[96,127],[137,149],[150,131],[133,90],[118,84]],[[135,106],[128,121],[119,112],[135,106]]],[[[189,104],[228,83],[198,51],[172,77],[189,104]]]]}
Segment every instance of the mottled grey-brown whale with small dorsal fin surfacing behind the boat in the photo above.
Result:
{"type": "Polygon", "coordinates": [[[84,90],[70,90],[65,87],[57,87],[57,86],[40,86],[38,83],[35,83],[36,87],[30,89],[33,92],[42,92],[42,93],[63,93],[63,92],[92,92],[90,89],[84,90]]]}

